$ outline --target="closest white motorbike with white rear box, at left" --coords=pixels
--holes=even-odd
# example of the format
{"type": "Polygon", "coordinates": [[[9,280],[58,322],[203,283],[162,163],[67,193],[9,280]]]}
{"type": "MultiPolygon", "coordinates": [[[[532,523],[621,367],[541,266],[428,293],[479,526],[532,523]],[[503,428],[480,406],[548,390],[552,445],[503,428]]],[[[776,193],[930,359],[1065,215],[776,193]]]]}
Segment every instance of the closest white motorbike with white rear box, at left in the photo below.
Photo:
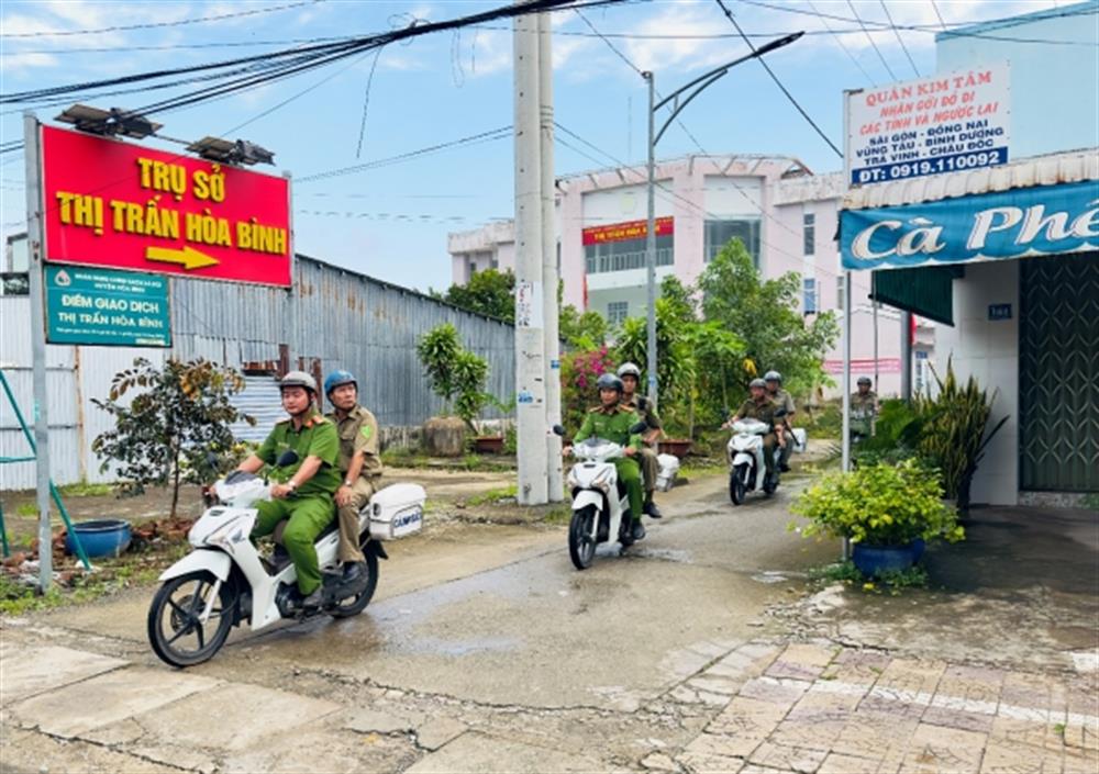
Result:
{"type": "MultiPolygon", "coordinates": [[[[296,461],[295,452],[288,451],[278,465],[296,461]]],[[[338,518],[333,518],[315,543],[323,602],[317,609],[301,609],[293,603],[297,575],[289,556],[279,546],[265,558],[249,539],[258,515],[254,505],[270,498],[270,485],[252,473],[234,471],[213,491],[217,502],[209,504],[187,536],[195,550],[160,574],[164,583],[149,605],[149,644],[173,666],[193,666],[212,658],[230,629],[245,621],[257,631],[284,618],[358,615],[378,585],[378,559],[389,558],[380,541],[419,532],[426,500],[417,484],[393,484],[370,498],[359,512],[366,569],[347,582],[336,559],[338,518]]]]}

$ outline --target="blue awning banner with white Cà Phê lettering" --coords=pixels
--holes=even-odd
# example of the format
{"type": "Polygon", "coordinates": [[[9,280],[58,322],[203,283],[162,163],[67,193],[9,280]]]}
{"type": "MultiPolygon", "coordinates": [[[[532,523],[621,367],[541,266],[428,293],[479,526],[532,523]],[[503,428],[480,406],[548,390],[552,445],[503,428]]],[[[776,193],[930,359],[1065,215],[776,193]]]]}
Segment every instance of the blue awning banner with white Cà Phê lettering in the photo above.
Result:
{"type": "Polygon", "coordinates": [[[1097,180],[840,213],[844,269],[1003,260],[1096,249],[1097,180]]]}

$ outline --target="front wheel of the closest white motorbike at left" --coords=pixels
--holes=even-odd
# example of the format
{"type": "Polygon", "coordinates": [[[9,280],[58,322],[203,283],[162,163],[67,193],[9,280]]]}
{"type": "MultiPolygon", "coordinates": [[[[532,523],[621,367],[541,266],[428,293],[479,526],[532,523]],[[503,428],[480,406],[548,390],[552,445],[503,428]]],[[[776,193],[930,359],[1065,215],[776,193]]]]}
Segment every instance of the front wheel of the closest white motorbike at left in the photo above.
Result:
{"type": "Polygon", "coordinates": [[[217,585],[213,574],[199,570],[166,581],[156,592],[148,608],[148,643],[162,661],[173,666],[193,666],[221,650],[233,628],[236,598],[222,583],[210,617],[202,622],[217,585]]]}

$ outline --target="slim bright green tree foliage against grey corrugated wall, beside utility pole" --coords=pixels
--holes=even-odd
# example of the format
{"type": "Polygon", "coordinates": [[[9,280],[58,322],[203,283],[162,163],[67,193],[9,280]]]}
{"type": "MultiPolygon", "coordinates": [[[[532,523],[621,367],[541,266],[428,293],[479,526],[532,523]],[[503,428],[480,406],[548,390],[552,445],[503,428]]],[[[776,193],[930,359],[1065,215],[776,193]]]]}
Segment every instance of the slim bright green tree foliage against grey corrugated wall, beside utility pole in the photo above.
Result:
{"type": "Polygon", "coordinates": [[[485,392],[488,361],[463,348],[458,330],[449,323],[437,325],[417,344],[417,355],[432,391],[446,403],[445,411],[457,414],[470,429],[492,396],[485,392]]]}

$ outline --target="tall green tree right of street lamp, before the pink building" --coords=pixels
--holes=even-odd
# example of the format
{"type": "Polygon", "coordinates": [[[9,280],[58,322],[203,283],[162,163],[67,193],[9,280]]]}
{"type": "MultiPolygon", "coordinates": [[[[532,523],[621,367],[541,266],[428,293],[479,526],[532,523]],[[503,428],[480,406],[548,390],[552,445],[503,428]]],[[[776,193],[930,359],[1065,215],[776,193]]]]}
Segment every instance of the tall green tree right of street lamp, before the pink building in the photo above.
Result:
{"type": "Polygon", "coordinates": [[[702,313],[744,341],[745,368],[731,388],[745,394],[755,371],[777,370],[787,390],[803,393],[826,379],[823,358],[840,336],[831,312],[806,324],[798,311],[801,278],[796,272],[764,280],[740,239],[733,239],[699,278],[702,313]]]}

